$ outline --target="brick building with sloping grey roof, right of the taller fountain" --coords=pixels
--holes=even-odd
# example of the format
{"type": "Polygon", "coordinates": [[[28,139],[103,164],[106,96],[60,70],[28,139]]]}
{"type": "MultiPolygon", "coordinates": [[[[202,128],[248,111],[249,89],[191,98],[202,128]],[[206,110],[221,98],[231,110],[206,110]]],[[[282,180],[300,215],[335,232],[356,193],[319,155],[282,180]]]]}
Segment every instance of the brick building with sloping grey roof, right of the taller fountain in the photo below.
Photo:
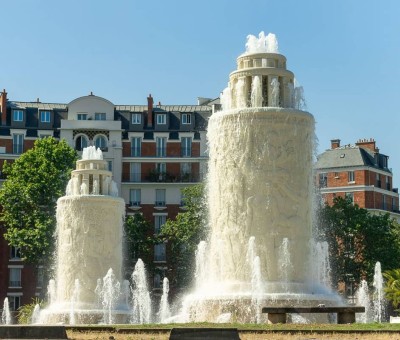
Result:
{"type": "Polygon", "coordinates": [[[323,199],[332,204],[336,196],[348,197],[372,213],[389,212],[399,220],[399,194],[388,160],[374,139],[343,146],[339,139],[331,140],[331,148],[318,156],[315,165],[323,199]]]}

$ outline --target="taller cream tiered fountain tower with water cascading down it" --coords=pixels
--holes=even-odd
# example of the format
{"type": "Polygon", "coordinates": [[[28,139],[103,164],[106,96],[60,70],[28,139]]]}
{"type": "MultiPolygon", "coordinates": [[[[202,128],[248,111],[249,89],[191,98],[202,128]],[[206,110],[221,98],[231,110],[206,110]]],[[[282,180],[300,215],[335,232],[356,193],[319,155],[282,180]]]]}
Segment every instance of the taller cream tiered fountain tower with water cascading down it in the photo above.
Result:
{"type": "Polygon", "coordinates": [[[338,301],[310,256],[314,118],[275,36],[249,36],[246,47],[209,120],[211,235],[186,320],[259,320],[262,304],[338,301]]]}

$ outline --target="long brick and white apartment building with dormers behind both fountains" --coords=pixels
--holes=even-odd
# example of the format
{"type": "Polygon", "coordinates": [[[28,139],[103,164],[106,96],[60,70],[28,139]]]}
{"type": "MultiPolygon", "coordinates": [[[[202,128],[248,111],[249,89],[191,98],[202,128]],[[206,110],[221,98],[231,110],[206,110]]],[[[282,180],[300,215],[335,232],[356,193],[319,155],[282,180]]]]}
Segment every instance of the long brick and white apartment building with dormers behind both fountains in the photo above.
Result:
{"type": "MultiPolygon", "coordinates": [[[[141,213],[157,233],[181,211],[181,190],[203,180],[207,167],[206,127],[217,100],[199,98],[198,105],[114,105],[93,95],[68,104],[12,101],[0,93],[0,170],[33,147],[36,139],[65,139],[80,154],[95,145],[126,202],[127,215],[141,213]]],[[[0,177],[3,181],[3,176],[0,177]]],[[[165,244],[154,247],[154,264],[167,268],[165,244]]],[[[161,271],[162,272],[162,271],[161,271]]],[[[19,249],[0,235],[0,301],[11,308],[45,294],[41,268],[21,261],[19,249]]],[[[162,282],[154,277],[154,288],[162,282]]]]}

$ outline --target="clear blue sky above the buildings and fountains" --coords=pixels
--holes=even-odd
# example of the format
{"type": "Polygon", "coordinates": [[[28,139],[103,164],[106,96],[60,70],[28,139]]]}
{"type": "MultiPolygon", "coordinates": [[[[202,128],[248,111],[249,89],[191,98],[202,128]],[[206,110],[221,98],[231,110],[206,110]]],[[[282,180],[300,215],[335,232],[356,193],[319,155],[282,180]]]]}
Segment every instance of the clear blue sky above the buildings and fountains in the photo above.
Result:
{"type": "Polygon", "coordinates": [[[0,89],[116,105],[216,98],[246,37],[277,36],[316,121],[317,153],[374,138],[400,186],[398,0],[2,1],[0,89]]]}

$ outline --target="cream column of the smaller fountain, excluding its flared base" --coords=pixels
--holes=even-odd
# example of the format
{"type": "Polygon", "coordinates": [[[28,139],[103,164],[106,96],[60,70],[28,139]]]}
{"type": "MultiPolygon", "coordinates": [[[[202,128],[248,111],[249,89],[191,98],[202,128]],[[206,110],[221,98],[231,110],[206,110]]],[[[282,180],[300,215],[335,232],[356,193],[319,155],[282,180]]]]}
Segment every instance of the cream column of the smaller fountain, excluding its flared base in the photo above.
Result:
{"type": "Polygon", "coordinates": [[[111,176],[102,155],[99,158],[97,151],[86,152],[72,172],[71,186],[77,182],[80,192],[73,190],[57,201],[56,304],[61,308],[68,308],[74,301],[77,281],[79,302],[74,301],[74,308],[95,309],[97,280],[110,268],[117,280],[122,279],[125,203],[122,198],[107,195],[107,189],[103,195],[99,192],[100,179],[106,178],[105,182],[110,183],[111,176]]]}

